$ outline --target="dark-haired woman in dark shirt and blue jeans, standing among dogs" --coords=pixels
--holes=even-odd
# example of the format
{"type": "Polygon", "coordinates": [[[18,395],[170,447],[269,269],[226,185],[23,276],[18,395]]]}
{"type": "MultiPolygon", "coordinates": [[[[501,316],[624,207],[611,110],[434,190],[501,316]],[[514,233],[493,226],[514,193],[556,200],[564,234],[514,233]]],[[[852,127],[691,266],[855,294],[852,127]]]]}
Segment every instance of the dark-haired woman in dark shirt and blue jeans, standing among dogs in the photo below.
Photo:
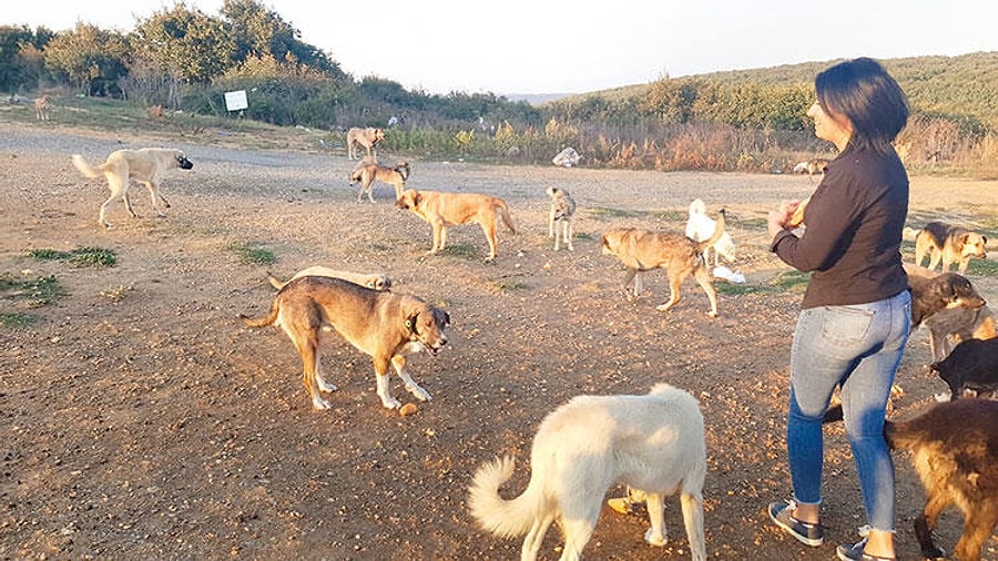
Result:
{"type": "Polygon", "coordinates": [[[842,389],[846,437],[859,475],[869,533],[839,545],[843,560],[895,559],[894,463],[884,416],[910,327],[900,242],[908,176],[892,142],[908,119],[897,82],[874,60],[836,64],[815,79],[807,111],[815,134],[838,149],[804,210],[768,214],[771,251],[809,272],[791,349],[786,441],[793,500],[770,504],[770,518],[807,545],[821,545],[822,418],[842,389]]]}

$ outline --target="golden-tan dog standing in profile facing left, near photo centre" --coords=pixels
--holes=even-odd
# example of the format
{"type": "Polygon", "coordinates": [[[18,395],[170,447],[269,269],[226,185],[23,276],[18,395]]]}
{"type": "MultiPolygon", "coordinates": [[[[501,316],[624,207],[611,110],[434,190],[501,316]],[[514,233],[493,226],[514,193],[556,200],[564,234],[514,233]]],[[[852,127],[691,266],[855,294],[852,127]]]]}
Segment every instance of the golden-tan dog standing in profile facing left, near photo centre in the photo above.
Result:
{"type": "Polygon", "coordinates": [[[434,247],[431,254],[442,252],[447,245],[447,228],[461,224],[478,224],[489,242],[487,262],[496,258],[498,245],[496,236],[496,213],[513,234],[517,230],[509,216],[506,201],[480,193],[441,193],[439,191],[406,190],[395,205],[411,211],[434,230],[434,247]]]}

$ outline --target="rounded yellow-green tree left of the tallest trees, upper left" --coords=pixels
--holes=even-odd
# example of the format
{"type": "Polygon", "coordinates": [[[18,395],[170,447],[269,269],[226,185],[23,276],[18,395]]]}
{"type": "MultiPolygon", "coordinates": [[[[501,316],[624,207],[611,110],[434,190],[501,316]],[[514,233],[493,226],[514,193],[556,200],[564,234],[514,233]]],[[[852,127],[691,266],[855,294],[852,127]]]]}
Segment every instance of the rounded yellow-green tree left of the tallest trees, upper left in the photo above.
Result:
{"type": "Polygon", "coordinates": [[[128,73],[126,39],[80,21],[72,31],[57,33],[42,52],[48,69],[65,74],[88,95],[108,93],[108,84],[128,73]]]}

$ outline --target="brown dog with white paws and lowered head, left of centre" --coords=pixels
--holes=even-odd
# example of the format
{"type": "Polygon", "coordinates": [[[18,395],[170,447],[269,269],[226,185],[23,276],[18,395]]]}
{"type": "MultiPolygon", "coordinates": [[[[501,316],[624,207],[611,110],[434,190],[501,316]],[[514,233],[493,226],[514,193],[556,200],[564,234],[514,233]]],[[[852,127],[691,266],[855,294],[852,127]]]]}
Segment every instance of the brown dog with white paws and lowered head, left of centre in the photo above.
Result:
{"type": "Polygon", "coordinates": [[[416,296],[373,290],[323,276],[305,276],[288,283],[277,293],[265,317],[240,317],[249,327],[277,324],[284,329],[302,356],[303,380],[315,409],[330,407],[319,396],[320,390],[336,390],[320,371],[319,340],[324,329],[332,327],[373,358],[381,405],[397,409],[401,402],[391,397],[388,365],[395,367],[409,392],[421,401],[429,400],[430,395],[406,373],[406,356],[419,351],[436,356],[447,344],[444,329],[450,324],[449,314],[416,296]]]}

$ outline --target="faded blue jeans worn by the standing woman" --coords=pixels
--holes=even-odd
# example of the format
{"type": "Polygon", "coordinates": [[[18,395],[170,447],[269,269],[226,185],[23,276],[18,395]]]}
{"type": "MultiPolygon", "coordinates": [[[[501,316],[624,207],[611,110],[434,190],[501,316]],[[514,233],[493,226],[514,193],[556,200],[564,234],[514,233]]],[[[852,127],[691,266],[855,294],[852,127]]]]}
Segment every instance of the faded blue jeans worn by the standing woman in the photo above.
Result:
{"type": "Polygon", "coordinates": [[[846,437],[867,521],[874,530],[894,531],[894,462],[884,439],[884,415],[910,324],[907,290],[869,304],[801,312],[791,349],[786,425],[797,502],[822,501],[822,418],[841,385],[846,437]]]}

